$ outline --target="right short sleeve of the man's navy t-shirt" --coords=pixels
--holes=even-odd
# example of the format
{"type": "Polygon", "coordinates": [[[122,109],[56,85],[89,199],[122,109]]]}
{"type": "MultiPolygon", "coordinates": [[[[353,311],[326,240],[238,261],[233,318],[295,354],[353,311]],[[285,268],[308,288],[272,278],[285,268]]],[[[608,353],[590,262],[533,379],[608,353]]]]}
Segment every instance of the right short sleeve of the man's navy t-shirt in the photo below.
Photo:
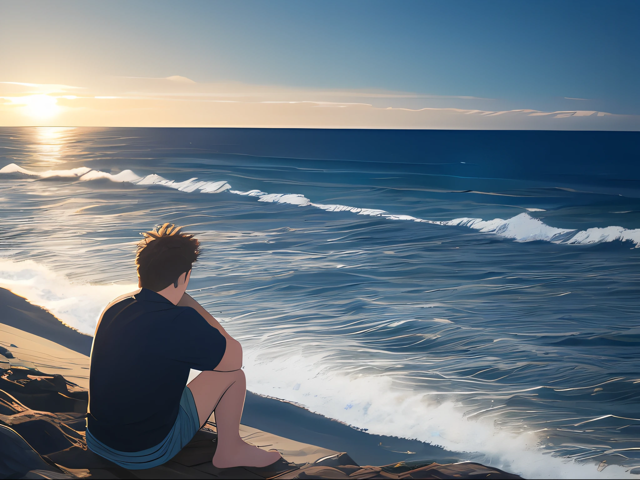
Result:
{"type": "Polygon", "coordinates": [[[175,317],[175,338],[168,357],[184,362],[196,370],[213,370],[225,355],[227,339],[220,330],[211,326],[196,310],[183,307],[184,311],[175,317]]]}

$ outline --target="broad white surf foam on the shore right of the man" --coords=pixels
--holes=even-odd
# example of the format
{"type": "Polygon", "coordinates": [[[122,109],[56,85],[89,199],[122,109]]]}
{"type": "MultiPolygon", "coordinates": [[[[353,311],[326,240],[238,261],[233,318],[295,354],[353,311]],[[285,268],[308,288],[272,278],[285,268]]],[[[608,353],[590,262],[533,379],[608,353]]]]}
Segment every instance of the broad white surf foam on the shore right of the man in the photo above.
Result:
{"type": "Polygon", "coordinates": [[[326,367],[324,355],[273,358],[273,349],[244,349],[247,388],[287,399],[312,412],[341,420],[378,435],[417,438],[450,451],[481,452],[483,463],[525,478],[625,478],[625,468],[611,465],[598,472],[595,464],[556,458],[540,446],[538,433],[514,433],[486,419],[465,417],[452,401],[396,387],[391,376],[349,375],[326,367]]]}

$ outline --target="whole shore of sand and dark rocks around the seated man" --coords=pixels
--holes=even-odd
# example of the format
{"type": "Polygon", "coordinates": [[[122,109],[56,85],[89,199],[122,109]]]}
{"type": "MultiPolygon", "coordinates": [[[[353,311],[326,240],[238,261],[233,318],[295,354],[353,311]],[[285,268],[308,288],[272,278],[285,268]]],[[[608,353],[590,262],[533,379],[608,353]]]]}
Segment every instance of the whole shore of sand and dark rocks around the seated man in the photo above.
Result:
{"type": "Polygon", "coordinates": [[[55,478],[284,479],[347,478],[358,472],[358,478],[519,478],[434,445],[371,435],[252,392],[247,392],[241,434],[259,447],[278,449],[284,460],[277,465],[212,467],[217,440],[212,415],[207,427],[172,461],[131,472],[86,450],[92,337],[4,289],[0,308],[5,312],[0,323],[0,443],[5,452],[0,477],[51,478],[55,473],[55,478]]]}

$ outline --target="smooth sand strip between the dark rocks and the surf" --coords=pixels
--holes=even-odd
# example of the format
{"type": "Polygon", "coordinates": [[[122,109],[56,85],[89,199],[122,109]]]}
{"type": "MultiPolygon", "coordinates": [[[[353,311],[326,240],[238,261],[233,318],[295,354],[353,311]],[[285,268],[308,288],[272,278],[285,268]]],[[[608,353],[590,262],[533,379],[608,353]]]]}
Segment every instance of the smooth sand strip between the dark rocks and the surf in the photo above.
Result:
{"type": "MultiPolygon", "coordinates": [[[[65,326],[51,313],[6,289],[0,289],[0,308],[3,307],[11,314],[0,322],[0,344],[5,348],[5,355],[15,353],[9,360],[11,367],[33,370],[36,375],[60,373],[77,383],[78,388],[88,389],[88,353],[92,337],[65,326]]],[[[0,360],[2,358],[4,356],[0,360]]],[[[3,362],[0,367],[9,369],[6,360],[3,362]]],[[[358,465],[442,465],[473,461],[474,457],[419,440],[360,431],[286,400],[260,396],[249,390],[241,424],[241,428],[252,435],[259,432],[270,438],[271,444],[276,444],[273,438],[279,438],[280,442],[306,445],[298,448],[300,451],[305,448],[308,451],[311,447],[312,451],[324,454],[347,452],[349,460],[353,459],[358,465]]],[[[306,461],[318,460],[308,454],[304,458],[306,461]]]]}

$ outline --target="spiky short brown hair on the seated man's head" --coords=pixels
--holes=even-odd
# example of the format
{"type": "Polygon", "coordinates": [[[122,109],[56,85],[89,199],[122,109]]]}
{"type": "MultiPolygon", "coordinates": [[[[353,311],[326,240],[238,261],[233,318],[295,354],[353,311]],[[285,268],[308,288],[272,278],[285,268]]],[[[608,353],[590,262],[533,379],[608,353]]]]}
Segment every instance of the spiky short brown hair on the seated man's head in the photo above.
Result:
{"type": "Polygon", "coordinates": [[[200,255],[200,242],[181,228],[165,223],[140,234],[144,238],[138,243],[136,265],[141,287],[159,292],[191,270],[200,255]]]}

